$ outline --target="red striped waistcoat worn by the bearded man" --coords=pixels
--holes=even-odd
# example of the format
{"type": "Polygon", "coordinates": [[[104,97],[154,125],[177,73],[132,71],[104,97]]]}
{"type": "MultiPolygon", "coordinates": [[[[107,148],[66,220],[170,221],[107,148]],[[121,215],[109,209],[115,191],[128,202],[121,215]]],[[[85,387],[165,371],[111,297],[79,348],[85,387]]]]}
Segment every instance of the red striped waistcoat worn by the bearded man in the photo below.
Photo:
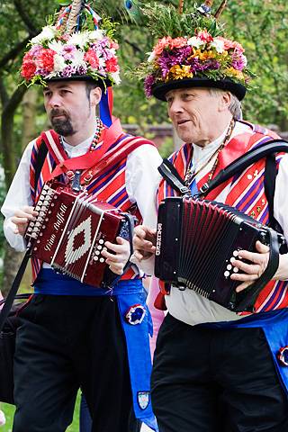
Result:
{"type": "MultiPolygon", "coordinates": [[[[55,132],[54,132],[55,134],[55,132]]],[[[131,136],[128,134],[122,133],[120,137],[115,139],[114,142],[106,149],[106,153],[113,149],[120,149],[128,140],[131,140],[131,136]]],[[[154,144],[147,139],[142,137],[135,137],[135,140],[140,141],[140,145],[144,144],[154,144]]],[[[133,139],[134,141],[134,139],[133,139]]],[[[48,152],[47,157],[44,160],[43,166],[40,171],[40,176],[37,184],[37,190],[35,191],[35,167],[37,165],[37,157],[39,153],[40,144],[42,142],[42,137],[38,137],[35,140],[34,146],[31,152],[31,166],[30,166],[30,185],[31,185],[31,198],[35,203],[37,198],[41,192],[43,184],[49,179],[53,169],[58,165],[58,160],[56,160],[55,154],[52,155],[51,152],[48,152]]],[[[59,146],[59,142],[57,139],[57,146],[59,146]]],[[[97,147],[101,151],[102,146],[105,145],[105,141],[101,146],[97,147]]],[[[61,149],[63,152],[63,149],[61,149]]],[[[88,153],[87,153],[88,154],[88,153]]],[[[104,155],[103,155],[104,156],[104,155]]],[[[97,160],[95,160],[95,163],[97,160]]],[[[121,211],[129,211],[130,208],[133,209],[133,214],[136,215],[139,222],[141,221],[141,215],[139,210],[135,204],[130,202],[129,196],[126,190],[125,185],[125,170],[126,170],[127,157],[123,157],[119,163],[116,165],[108,166],[107,169],[99,176],[94,177],[90,183],[86,186],[86,191],[88,194],[96,196],[100,201],[109,202],[115,207],[121,209],[121,211]]],[[[59,177],[59,180],[63,181],[64,178],[59,177]]],[[[37,275],[40,272],[42,262],[37,258],[31,259],[32,266],[32,278],[33,281],[36,279],[37,275]]],[[[135,278],[135,272],[130,268],[125,275],[122,276],[122,279],[132,279],[135,278]]]]}

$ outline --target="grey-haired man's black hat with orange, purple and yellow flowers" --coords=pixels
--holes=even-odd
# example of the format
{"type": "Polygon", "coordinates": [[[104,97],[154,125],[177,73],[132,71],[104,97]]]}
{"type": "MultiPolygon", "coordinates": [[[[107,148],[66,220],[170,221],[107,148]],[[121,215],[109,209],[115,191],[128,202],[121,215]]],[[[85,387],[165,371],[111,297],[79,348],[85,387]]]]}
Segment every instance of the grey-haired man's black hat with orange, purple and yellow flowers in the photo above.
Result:
{"type": "Polygon", "coordinates": [[[242,100],[246,94],[250,73],[245,49],[226,38],[218,18],[226,1],[215,15],[212,0],[183,13],[175,6],[148,5],[143,13],[157,43],[148,60],[137,70],[144,79],[145,93],[166,100],[166,93],[183,87],[214,87],[235,94],[242,100]]]}

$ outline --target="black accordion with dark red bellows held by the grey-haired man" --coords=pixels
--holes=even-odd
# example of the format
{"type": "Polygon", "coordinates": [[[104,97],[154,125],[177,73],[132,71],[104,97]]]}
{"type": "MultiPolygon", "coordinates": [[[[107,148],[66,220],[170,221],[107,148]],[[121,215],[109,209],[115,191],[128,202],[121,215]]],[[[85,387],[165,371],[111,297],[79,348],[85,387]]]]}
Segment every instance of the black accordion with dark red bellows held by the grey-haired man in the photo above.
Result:
{"type": "MultiPolygon", "coordinates": [[[[241,249],[254,251],[257,240],[270,246],[271,231],[220,202],[166,198],[158,211],[155,275],[180,289],[190,288],[230,311],[249,310],[256,300],[251,294],[253,285],[236,293],[239,282],[230,279],[238,271],[233,260],[242,259],[241,249]],[[245,296],[252,300],[245,301],[245,296]]],[[[284,253],[284,237],[273,232],[277,252],[281,247],[284,253]]]]}

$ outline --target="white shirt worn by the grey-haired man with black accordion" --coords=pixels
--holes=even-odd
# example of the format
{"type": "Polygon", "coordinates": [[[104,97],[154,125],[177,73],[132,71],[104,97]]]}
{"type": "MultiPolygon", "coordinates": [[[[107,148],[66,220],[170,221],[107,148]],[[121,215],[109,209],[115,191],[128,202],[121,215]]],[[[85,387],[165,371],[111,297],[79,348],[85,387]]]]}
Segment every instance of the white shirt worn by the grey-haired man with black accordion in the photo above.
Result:
{"type": "MultiPolygon", "coordinates": [[[[235,128],[232,131],[231,138],[236,135],[248,132],[253,133],[249,126],[236,122],[235,128]]],[[[200,148],[193,144],[193,166],[195,171],[202,166],[205,161],[211,157],[216,148],[219,147],[220,142],[225,137],[226,130],[218,138],[212,141],[205,148],[200,148]]],[[[205,166],[202,171],[196,175],[196,181],[199,182],[202,176],[206,175],[211,171],[211,168],[215,162],[215,157],[211,159],[209,164],[205,166]]],[[[225,202],[229,193],[228,185],[218,195],[215,201],[225,202]]],[[[275,184],[275,219],[278,220],[282,228],[284,229],[284,236],[288,240],[288,154],[285,155],[280,164],[279,171],[276,177],[275,184]]],[[[145,225],[145,220],[143,222],[145,225]]],[[[153,259],[143,260],[139,265],[145,273],[151,274],[154,266],[153,259]]],[[[173,287],[169,295],[166,295],[166,306],[167,310],[177,320],[182,320],[186,324],[196,325],[203,322],[216,322],[225,320],[238,320],[239,317],[236,313],[229,311],[228,309],[220,306],[220,304],[211,302],[205,299],[200,294],[195,293],[193,290],[186,289],[180,291],[178,288],[173,287]]]]}

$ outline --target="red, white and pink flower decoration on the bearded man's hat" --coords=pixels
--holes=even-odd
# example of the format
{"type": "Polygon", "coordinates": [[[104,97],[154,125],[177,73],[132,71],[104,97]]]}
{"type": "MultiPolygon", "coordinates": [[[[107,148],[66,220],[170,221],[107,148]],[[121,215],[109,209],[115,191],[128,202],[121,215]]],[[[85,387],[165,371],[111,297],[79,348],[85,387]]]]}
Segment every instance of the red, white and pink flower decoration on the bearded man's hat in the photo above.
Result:
{"type": "Polygon", "coordinates": [[[114,31],[109,19],[101,20],[88,4],[73,0],[58,14],[55,24],[45,26],[31,39],[21,75],[29,85],[74,77],[102,80],[105,86],[119,84],[114,31]]]}

